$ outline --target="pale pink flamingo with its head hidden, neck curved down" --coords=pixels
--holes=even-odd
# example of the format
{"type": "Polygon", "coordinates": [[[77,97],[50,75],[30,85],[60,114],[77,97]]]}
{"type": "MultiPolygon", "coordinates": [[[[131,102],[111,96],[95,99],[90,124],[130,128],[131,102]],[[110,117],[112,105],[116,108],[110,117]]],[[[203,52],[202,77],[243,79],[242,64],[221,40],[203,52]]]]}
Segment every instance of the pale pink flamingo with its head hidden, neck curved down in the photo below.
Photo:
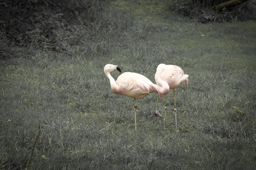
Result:
{"type": "MultiPolygon", "coordinates": [[[[164,127],[166,127],[166,94],[169,93],[169,89],[172,89],[174,92],[174,112],[175,112],[175,125],[177,129],[177,109],[176,109],[176,90],[180,86],[182,82],[186,82],[188,85],[188,77],[189,75],[184,74],[184,71],[177,65],[165,65],[160,64],[157,66],[157,72],[155,74],[155,80],[157,83],[157,87],[161,94],[165,96],[165,113],[164,113],[164,127]]],[[[158,96],[157,96],[158,103],[158,96]]]]}

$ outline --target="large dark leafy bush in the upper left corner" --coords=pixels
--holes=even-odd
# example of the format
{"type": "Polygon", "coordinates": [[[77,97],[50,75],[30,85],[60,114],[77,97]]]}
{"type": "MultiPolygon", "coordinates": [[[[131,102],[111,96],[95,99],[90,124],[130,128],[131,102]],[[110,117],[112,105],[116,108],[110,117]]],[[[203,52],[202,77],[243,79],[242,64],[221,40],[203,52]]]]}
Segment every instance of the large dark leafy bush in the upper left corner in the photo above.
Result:
{"type": "MultiPolygon", "coordinates": [[[[63,50],[79,43],[80,29],[99,17],[108,0],[0,0],[0,27],[19,47],[63,50]]],[[[5,37],[5,38],[6,38],[5,37]]]]}

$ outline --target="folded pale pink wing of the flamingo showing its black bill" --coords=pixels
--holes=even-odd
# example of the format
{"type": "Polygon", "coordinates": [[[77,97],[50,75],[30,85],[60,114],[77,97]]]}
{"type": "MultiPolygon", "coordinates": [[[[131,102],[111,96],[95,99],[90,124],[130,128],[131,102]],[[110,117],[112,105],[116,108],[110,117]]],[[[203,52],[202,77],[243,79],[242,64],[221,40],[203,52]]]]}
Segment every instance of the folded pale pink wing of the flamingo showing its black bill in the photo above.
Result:
{"type": "Polygon", "coordinates": [[[157,92],[157,85],[152,83],[147,77],[131,72],[125,72],[121,74],[117,80],[116,84],[119,86],[119,94],[142,99],[151,92],[157,92]]]}

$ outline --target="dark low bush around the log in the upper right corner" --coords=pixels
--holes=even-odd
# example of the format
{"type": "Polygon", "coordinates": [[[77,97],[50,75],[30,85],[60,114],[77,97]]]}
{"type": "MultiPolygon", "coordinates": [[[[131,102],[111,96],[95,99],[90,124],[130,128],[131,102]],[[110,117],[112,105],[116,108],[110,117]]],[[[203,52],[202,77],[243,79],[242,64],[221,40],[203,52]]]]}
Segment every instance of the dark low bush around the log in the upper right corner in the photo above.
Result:
{"type": "Polygon", "coordinates": [[[176,14],[189,17],[201,23],[256,20],[255,0],[217,11],[215,6],[228,0],[174,0],[169,9],[176,14]]]}

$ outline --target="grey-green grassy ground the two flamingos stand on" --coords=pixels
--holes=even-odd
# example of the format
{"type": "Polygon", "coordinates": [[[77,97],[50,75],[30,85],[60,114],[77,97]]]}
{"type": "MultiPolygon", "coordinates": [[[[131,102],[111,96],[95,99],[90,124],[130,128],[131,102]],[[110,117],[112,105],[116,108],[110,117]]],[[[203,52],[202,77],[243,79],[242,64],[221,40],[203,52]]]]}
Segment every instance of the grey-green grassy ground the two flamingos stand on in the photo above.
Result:
{"type": "Polygon", "coordinates": [[[0,169],[25,169],[38,126],[31,169],[253,169],[256,23],[204,25],[164,7],[117,0],[74,50],[1,61],[0,169]],[[189,88],[177,91],[178,131],[173,92],[167,129],[150,117],[150,94],[137,100],[135,131],[133,99],[113,94],[108,63],[152,82],[160,63],[183,68],[189,88]]]}

